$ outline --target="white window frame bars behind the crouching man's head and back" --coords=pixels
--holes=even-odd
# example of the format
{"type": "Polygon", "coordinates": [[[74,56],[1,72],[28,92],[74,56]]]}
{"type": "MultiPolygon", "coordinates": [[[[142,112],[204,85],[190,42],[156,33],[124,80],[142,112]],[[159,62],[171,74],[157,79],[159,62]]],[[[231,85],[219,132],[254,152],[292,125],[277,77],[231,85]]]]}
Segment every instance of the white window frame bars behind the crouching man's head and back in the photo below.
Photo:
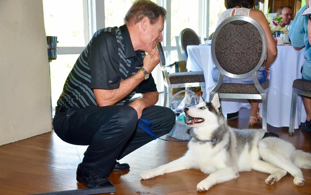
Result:
{"type": "MultiPolygon", "coordinates": [[[[198,0],[199,7],[199,32],[198,35],[202,37],[208,37],[209,31],[209,0],[198,0]]],[[[171,43],[171,0],[156,0],[156,3],[163,6],[167,11],[167,20],[163,30],[163,49],[171,52],[176,50],[177,47],[172,46],[171,43]]],[[[84,14],[84,25],[85,27],[85,46],[92,38],[93,34],[102,28],[105,28],[105,16],[104,12],[104,0],[83,0],[83,14],[84,14]]],[[[58,47],[58,55],[66,54],[80,54],[85,47],[58,47]]],[[[176,59],[181,61],[182,59],[176,59]]],[[[159,92],[163,92],[163,78],[161,69],[157,66],[153,71],[153,76],[158,86],[159,92]]]]}

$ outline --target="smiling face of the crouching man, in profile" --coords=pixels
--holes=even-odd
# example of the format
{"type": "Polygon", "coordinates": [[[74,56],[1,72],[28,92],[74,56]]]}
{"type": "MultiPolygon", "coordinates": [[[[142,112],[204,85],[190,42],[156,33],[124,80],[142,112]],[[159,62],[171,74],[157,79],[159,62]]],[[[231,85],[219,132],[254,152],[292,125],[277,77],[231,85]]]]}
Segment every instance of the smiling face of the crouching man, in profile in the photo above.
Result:
{"type": "Polygon", "coordinates": [[[163,40],[162,31],[164,29],[164,18],[162,16],[159,17],[158,21],[154,24],[150,24],[145,31],[144,39],[145,49],[146,52],[150,52],[152,49],[155,48],[157,42],[161,42],[163,40]]]}

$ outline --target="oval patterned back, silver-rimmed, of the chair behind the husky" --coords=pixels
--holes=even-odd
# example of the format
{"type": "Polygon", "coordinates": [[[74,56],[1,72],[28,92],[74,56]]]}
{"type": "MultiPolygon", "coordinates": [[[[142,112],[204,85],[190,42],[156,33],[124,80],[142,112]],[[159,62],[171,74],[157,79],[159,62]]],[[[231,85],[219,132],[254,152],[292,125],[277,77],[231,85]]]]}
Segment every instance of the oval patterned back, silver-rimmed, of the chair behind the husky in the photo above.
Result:
{"type": "Polygon", "coordinates": [[[265,33],[251,17],[229,17],[213,36],[216,38],[211,43],[212,57],[222,74],[245,78],[256,73],[263,64],[267,51],[265,33]]]}

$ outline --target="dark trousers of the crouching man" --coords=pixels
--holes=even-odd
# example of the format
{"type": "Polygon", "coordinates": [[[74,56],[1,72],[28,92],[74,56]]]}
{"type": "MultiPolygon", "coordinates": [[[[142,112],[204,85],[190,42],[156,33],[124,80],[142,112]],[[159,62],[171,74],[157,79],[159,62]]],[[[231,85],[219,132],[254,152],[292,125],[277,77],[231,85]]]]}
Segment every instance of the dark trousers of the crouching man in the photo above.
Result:
{"type": "MultiPolygon", "coordinates": [[[[108,177],[114,163],[153,139],[138,127],[138,115],[127,105],[87,106],[68,113],[57,112],[53,119],[55,133],[65,142],[89,145],[83,165],[101,177],[108,177]]],[[[142,112],[151,130],[160,137],[175,123],[173,111],[152,106],[142,112]]]]}

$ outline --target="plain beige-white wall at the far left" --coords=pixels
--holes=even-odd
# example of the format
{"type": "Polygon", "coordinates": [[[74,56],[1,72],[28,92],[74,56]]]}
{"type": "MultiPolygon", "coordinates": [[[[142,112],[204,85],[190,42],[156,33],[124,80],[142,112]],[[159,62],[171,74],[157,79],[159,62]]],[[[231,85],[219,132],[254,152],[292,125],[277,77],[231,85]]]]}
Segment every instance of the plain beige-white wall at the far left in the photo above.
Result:
{"type": "Polygon", "coordinates": [[[42,0],[0,0],[0,145],[52,130],[42,0]]]}

